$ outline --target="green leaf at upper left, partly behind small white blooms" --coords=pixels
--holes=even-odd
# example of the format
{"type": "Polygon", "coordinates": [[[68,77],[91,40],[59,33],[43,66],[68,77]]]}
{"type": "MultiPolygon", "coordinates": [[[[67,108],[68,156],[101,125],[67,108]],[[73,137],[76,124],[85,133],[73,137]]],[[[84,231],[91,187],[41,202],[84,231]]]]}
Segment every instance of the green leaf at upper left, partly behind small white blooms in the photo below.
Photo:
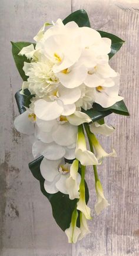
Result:
{"type": "MultiPolygon", "coordinates": [[[[27,76],[25,76],[25,72],[22,69],[24,66],[24,61],[29,63],[30,60],[27,59],[27,57],[19,56],[18,53],[22,50],[23,47],[27,47],[30,44],[33,44],[32,42],[11,42],[12,44],[12,55],[14,57],[16,68],[19,71],[20,76],[22,77],[23,81],[27,81],[27,76]]],[[[34,44],[35,46],[35,44],[34,44]]]]}

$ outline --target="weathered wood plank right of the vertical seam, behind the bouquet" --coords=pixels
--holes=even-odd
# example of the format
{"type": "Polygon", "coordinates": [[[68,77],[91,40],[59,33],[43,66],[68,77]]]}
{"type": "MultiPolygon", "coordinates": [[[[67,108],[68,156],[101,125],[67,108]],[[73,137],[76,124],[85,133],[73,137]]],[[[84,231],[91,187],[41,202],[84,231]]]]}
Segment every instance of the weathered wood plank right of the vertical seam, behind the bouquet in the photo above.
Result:
{"type": "MultiPolygon", "coordinates": [[[[130,117],[112,114],[108,123],[116,129],[108,138],[102,138],[102,145],[110,152],[118,153],[117,159],[105,159],[99,169],[105,196],[110,202],[108,209],[90,221],[92,233],[72,245],[72,256],[125,256],[139,255],[138,236],[138,66],[139,66],[139,20],[138,1],[78,1],[72,2],[72,9],[84,8],[95,29],[111,32],[125,40],[125,45],[111,61],[112,67],[121,75],[120,92],[124,96],[130,117]],[[127,3],[127,5],[126,5],[127,3]],[[135,9],[135,5],[137,4],[135,9]]],[[[90,206],[95,202],[94,178],[88,170],[90,206]]]]}

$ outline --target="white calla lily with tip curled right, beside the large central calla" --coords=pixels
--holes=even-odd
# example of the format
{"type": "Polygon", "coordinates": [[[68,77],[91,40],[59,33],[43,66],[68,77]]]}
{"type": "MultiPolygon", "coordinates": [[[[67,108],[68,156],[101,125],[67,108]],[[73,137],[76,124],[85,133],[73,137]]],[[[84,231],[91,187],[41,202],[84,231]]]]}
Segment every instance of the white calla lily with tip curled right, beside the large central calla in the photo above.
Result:
{"type": "Polygon", "coordinates": [[[98,162],[101,162],[104,157],[117,156],[117,153],[115,152],[114,149],[112,150],[111,153],[105,152],[105,150],[100,145],[100,142],[98,142],[97,137],[95,137],[95,135],[93,133],[90,133],[90,139],[91,139],[91,142],[92,142],[92,145],[94,148],[95,156],[98,159],[98,162]]]}

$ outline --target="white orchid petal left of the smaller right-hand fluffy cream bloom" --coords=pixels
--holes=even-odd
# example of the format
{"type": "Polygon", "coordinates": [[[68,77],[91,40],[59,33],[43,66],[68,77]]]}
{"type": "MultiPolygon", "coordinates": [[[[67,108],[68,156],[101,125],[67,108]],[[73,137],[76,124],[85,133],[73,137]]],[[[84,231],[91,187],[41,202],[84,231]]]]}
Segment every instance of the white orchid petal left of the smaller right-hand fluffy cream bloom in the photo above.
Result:
{"type": "Polygon", "coordinates": [[[60,87],[58,90],[59,99],[62,100],[64,104],[75,103],[81,96],[80,88],[68,89],[65,87],[60,87]]]}

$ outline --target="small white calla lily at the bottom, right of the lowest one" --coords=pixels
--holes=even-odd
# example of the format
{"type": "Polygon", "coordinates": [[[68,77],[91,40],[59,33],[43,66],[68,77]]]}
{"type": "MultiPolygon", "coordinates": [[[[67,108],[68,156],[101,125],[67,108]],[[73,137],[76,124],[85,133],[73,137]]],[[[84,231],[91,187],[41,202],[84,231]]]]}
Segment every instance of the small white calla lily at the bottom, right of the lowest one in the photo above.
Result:
{"type": "Polygon", "coordinates": [[[78,240],[81,240],[86,235],[91,233],[87,225],[87,219],[85,218],[85,215],[82,214],[82,212],[80,212],[80,231],[81,231],[81,234],[78,240]]]}

